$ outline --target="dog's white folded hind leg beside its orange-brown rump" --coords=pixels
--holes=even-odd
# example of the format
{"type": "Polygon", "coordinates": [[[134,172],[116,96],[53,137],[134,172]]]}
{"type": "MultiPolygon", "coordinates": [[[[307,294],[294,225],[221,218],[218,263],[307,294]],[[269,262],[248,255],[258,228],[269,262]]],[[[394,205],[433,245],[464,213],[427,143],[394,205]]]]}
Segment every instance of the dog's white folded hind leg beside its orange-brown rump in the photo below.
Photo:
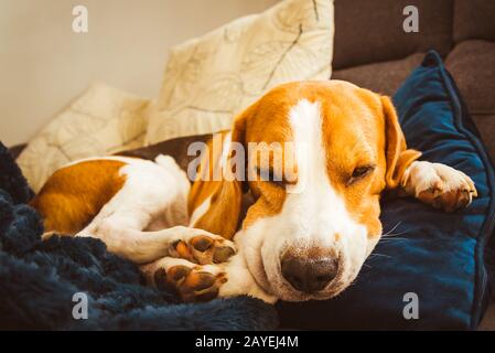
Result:
{"type": "Polygon", "coordinates": [[[141,231],[168,228],[165,231],[171,235],[184,234],[184,227],[177,226],[189,222],[190,183],[185,173],[168,156],[157,157],[155,163],[133,158],[101,159],[126,162],[120,169],[126,182],[92,223],[76,236],[100,238],[109,250],[136,263],[166,255],[170,239],[164,239],[163,233],[143,234],[141,231]],[[175,231],[171,227],[175,227],[175,231]]]}

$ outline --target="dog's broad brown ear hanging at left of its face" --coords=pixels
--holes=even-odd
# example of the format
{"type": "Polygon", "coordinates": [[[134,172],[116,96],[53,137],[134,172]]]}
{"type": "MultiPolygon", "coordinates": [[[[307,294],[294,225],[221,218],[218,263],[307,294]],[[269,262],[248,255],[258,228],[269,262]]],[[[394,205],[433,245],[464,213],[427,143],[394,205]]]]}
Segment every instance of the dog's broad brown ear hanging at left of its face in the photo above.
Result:
{"type": "MultiPolygon", "coordinates": [[[[195,228],[202,228],[213,234],[222,235],[230,239],[236,233],[239,225],[239,216],[241,212],[243,194],[247,189],[246,180],[246,121],[251,116],[254,107],[247,108],[234,120],[234,126],[230,135],[230,151],[228,154],[219,153],[227,157],[225,167],[232,171],[230,178],[225,178],[222,173],[222,180],[197,180],[194,182],[190,191],[189,208],[190,213],[194,215],[194,210],[202,205],[205,200],[209,199],[209,205],[205,213],[192,224],[195,228]],[[237,146],[237,147],[236,147],[237,146]],[[238,152],[238,148],[243,148],[243,154],[236,156],[233,150],[238,152]],[[239,157],[243,160],[238,160],[239,157]],[[236,163],[233,160],[236,159],[236,163]],[[244,164],[244,165],[243,165],[244,164]],[[233,170],[233,168],[240,168],[240,170],[233,170]],[[235,178],[232,178],[235,176],[235,178]]],[[[224,145],[224,143],[223,143],[224,145]]],[[[201,168],[216,168],[220,165],[215,162],[206,164],[202,161],[201,168]]],[[[217,156],[217,158],[220,158],[217,156]]],[[[213,172],[211,172],[212,174],[213,172]]]]}

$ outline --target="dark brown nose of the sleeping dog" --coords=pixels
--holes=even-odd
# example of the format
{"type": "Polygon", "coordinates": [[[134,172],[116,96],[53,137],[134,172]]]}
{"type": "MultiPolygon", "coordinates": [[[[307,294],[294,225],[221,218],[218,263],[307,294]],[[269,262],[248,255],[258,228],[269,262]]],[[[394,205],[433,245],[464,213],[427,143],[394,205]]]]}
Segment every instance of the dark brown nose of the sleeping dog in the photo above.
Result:
{"type": "Polygon", "coordinates": [[[338,259],[303,258],[286,254],[282,257],[282,276],[297,290],[313,293],[326,287],[338,271],[338,259]]]}

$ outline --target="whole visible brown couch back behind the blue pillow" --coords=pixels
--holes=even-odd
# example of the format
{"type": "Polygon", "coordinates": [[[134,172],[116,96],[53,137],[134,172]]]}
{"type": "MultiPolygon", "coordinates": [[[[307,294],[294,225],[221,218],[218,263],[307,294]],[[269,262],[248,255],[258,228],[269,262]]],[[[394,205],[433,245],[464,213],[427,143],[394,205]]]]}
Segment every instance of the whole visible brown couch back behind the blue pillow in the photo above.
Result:
{"type": "Polygon", "coordinates": [[[495,163],[495,0],[335,0],[332,78],[392,95],[437,50],[495,163]],[[419,32],[406,33],[407,6],[419,32]]]}

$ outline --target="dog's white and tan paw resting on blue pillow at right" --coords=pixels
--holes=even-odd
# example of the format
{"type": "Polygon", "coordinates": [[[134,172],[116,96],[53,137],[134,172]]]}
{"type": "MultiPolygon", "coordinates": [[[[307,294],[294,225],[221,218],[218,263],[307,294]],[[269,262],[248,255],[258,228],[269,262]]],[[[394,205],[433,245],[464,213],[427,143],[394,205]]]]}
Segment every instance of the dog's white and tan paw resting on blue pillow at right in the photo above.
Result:
{"type": "Polygon", "coordinates": [[[445,212],[466,207],[477,196],[470,176],[441,163],[413,162],[405,173],[402,188],[408,194],[445,212]]]}

